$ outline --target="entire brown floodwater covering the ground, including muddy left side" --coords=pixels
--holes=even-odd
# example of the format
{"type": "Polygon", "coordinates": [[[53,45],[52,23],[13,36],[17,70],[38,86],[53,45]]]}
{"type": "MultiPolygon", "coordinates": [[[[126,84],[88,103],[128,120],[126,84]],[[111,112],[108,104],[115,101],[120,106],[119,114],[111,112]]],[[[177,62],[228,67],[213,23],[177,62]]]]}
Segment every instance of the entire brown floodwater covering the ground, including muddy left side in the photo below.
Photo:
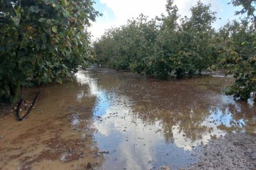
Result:
{"type": "Polygon", "coordinates": [[[233,79],[160,81],[90,68],[43,87],[27,119],[0,116],[2,169],[186,168],[209,140],[256,134],[252,100],[221,94],[233,79]]]}

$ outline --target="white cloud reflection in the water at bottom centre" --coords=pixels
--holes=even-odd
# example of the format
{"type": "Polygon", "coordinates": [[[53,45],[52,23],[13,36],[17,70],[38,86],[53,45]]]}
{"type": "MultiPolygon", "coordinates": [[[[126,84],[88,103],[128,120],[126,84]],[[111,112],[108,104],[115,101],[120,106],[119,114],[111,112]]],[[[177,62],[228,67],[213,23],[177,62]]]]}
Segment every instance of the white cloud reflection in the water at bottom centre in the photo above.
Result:
{"type": "MultiPolygon", "coordinates": [[[[121,100],[126,101],[124,98],[121,100]]],[[[151,147],[156,145],[161,139],[154,132],[156,127],[145,128],[140,120],[134,123],[134,119],[129,115],[130,108],[120,103],[118,104],[121,107],[116,104],[114,103],[114,106],[108,109],[106,115],[103,116],[103,119],[106,118],[106,121],[95,123],[101,136],[100,140],[105,140],[111,134],[121,139],[117,145],[111,146],[111,149],[116,149],[119,152],[118,161],[124,163],[124,167],[128,169],[150,169],[150,164],[147,161],[145,162],[145,160],[152,160],[151,147]],[[116,110],[118,110],[117,116],[116,114],[113,115],[116,110]],[[108,118],[110,116],[112,117],[108,118]],[[121,117],[123,119],[120,119],[121,117]]]]}

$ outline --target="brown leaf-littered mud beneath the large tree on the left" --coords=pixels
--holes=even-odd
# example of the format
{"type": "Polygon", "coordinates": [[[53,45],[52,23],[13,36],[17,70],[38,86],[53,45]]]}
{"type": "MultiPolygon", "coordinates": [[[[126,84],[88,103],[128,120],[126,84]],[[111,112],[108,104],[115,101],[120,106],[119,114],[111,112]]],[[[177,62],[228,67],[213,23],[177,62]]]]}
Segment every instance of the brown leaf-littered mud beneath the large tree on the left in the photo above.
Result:
{"type": "MultiPolygon", "coordinates": [[[[5,113],[0,120],[0,169],[85,169],[88,163],[92,168],[100,166],[103,157],[92,139],[94,99],[84,104],[72,99],[75,93],[62,94],[72,85],[66,84],[61,91],[58,85],[41,87],[42,95],[25,121],[17,121],[15,106],[2,107],[5,113]],[[66,105],[70,100],[74,100],[72,105],[66,105]],[[74,115],[81,119],[77,126],[72,124],[74,115]]],[[[23,94],[34,96],[28,89],[23,94]]],[[[21,113],[30,98],[23,103],[21,113]]]]}

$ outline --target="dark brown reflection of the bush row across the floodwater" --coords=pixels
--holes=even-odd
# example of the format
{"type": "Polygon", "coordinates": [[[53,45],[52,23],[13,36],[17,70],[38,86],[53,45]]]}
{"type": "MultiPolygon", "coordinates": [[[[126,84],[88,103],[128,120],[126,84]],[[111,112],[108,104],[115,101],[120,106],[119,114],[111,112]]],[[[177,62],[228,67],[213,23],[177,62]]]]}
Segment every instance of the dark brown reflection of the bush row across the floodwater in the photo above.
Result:
{"type": "Polygon", "coordinates": [[[255,128],[255,107],[234,103],[233,99],[223,102],[222,83],[228,84],[229,80],[204,76],[203,80],[160,81],[130,73],[111,73],[109,86],[108,77],[107,73],[98,76],[100,86],[104,89],[108,84],[107,89],[129,97],[136,113],[134,119],[145,124],[160,123],[166,142],[174,142],[177,132],[194,142],[206,135],[215,138],[216,131],[249,132],[255,128]]]}

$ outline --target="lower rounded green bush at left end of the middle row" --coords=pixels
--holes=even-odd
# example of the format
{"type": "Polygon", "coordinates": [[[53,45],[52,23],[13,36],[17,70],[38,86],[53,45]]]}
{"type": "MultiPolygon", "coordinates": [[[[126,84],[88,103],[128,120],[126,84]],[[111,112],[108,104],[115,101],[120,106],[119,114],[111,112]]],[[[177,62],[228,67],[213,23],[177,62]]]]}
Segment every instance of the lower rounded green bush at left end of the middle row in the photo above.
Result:
{"type": "Polygon", "coordinates": [[[94,43],[98,63],[116,70],[142,72],[153,52],[156,38],[155,20],[140,15],[121,28],[111,28],[94,43]]]}

